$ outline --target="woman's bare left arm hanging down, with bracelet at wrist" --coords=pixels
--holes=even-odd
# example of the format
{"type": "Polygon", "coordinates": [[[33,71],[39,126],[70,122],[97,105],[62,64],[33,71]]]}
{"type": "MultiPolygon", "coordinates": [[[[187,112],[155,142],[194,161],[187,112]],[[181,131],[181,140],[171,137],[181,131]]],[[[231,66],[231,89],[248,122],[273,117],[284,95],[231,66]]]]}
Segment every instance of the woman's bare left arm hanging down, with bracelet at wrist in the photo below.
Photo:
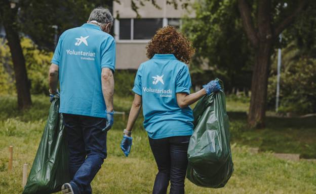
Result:
{"type": "MultiPolygon", "coordinates": [[[[134,101],[133,101],[130,115],[129,115],[129,119],[127,121],[126,131],[132,132],[133,126],[134,126],[135,121],[138,117],[141,106],[142,106],[142,97],[138,94],[135,94],[134,101]]],[[[125,135],[127,135],[127,134],[125,134],[125,135]]],[[[130,135],[127,135],[127,136],[130,137],[130,135]]]]}

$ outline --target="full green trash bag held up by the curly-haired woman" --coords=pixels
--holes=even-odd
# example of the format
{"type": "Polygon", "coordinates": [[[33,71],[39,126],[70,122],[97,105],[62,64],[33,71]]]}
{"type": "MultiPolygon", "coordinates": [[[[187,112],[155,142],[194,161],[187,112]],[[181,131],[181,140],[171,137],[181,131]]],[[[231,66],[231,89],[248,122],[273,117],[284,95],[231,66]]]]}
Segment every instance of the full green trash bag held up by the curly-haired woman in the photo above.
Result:
{"type": "Polygon", "coordinates": [[[204,96],[193,109],[193,115],[186,177],[198,186],[223,187],[233,172],[224,92],[204,96]]]}

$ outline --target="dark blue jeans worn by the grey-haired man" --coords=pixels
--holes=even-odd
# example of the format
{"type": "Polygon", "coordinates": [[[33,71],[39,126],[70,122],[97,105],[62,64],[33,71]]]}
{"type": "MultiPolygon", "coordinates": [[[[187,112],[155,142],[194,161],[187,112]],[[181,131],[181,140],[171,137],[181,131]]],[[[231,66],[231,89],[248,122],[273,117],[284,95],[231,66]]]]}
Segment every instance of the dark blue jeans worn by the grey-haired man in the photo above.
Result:
{"type": "Polygon", "coordinates": [[[74,194],[91,194],[91,181],[106,158],[105,118],[63,114],[74,194]]]}

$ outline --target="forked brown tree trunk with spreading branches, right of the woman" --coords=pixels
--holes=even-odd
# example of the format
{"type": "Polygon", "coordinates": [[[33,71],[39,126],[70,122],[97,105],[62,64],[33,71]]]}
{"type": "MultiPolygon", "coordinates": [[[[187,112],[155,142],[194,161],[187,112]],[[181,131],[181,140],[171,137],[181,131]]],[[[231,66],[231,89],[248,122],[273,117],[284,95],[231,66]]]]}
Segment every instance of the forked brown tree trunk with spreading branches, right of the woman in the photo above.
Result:
{"type": "Polygon", "coordinates": [[[288,27],[294,18],[304,9],[306,0],[299,1],[297,8],[280,24],[272,26],[271,0],[257,1],[258,17],[257,29],[252,23],[249,1],[238,0],[238,8],[248,39],[256,49],[255,65],[251,82],[251,101],[248,115],[248,124],[251,127],[264,127],[268,71],[272,51],[272,41],[288,27]]]}

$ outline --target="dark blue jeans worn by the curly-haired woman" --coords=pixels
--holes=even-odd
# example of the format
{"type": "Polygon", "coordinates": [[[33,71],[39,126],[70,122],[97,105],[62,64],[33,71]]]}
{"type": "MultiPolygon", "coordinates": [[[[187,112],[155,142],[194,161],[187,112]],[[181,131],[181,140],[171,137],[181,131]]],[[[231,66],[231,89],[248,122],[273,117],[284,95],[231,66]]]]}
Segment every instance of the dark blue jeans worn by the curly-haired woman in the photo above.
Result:
{"type": "Polygon", "coordinates": [[[150,148],[158,166],[153,194],[166,194],[169,181],[170,194],[184,194],[189,140],[190,136],[149,138],[150,148]]]}

